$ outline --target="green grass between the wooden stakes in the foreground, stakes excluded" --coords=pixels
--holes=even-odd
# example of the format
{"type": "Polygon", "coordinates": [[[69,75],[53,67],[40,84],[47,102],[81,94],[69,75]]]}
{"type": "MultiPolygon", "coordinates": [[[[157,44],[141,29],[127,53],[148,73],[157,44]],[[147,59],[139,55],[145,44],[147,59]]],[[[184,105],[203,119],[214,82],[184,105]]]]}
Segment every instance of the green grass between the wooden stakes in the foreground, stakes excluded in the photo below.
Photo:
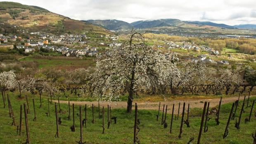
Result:
{"type": "MultiPolygon", "coordinates": [[[[19,109],[20,105],[26,102],[24,98],[19,99],[16,94],[9,93],[12,109],[14,111],[14,116],[16,116],[16,123],[19,123],[19,109]]],[[[2,97],[2,96],[1,96],[2,97]]],[[[252,100],[250,99],[250,104],[252,100]]],[[[67,120],[68,116],[68,105],[60,104],[62,112],[59,113],[59,117],[62,118],[62,125],[59,125],[59,138],[54,138],[56,132],[55,125],[55,112],[54,104],[50,104],[50,117],[46,117],[45,112],[47,112],[47,99],[43,97],[43,107],[39,109],[39,98],[38,95],[28,95],[28,103],[30,106],[30,113],[28,114],[28,125],[30,130],[31,144],[73,144],[79,140],[79,120],[78,116],[75,115],[75,126],[76,132],[71,132],[70,126],[72,121],[67,120]],[[33,105],[32,99],[35,99],[36,106],[36,116],[37,121],[33,121],[33,105]]],[[[237,109],[237,114],[241,110],[241,104],[239,103],[239,108],[237,109]]],[[[23,120],[23,130],[22,135],[17,135],[17,127],[11,126],[12,119],[9,118],[8,108],[2,108],[2,99],[0,99],[0,142],[3,144],[19,144],[25,142],[26,131],[24,127],[23,120]]],[[[115,106],[112,106],[112,108],[115,106]]],[[[140,107],[140,106],[138,106],[140,107]]],[[[82,106],[84,108],[84,106],[82,106]]],[[[112,123],[107,129],[107,108],[105,108],[105,133],[102,134],[102,119],[98,118],[98,109],[95,109],[95,123],[92,124],[92,109],[91,106],[87,106],[87,127],[83,127],[83,139],[84,141],[91,144],[131,144],[133,143],[133,125],[134,125],[134,111],[131,114],[126,113],[126,109],[112,109],[111,115],[117,116],[117,124],[112,123]]],[[[245,109],[245,113],[242,114],[242,121],[240,123],[240,130],[237,130],[235,125],[235,120],[230,122],[229,135],[225,139],[222,139],[225,125],[227,123],[227,118],[230,112],[231,103],[223,104],[220,111],[220,125],[216,125],[214,118],[215,115],[210,115],[212,119],[208,122],[209,130],[206,133],[202,133],[201,144],[249,144],[253,142],[251,138],[251,133],[255,132],[256,118],[252,116],[251,122],[245,124],[244,118],[249,116],[250,108],[245,109]]],[[[59,108],[58,108],[59,109],[59,108]]],[[[133,108],[134,109],[134,108],[133,108]]],[[[255,109],[255,108],[254,108],[255,109]]],[[[75,106],[75,113],[78,113],[78,106],[75,106]]],[[[190,110],[190,126],[186,127],[183,125],[183,137],[178,139],[180,119],[173,121],[173,133],[169,133],[170,129],[170,118],[171,115],[167,115],[168,128],[164,129],[161,125],[161,115],[160,120],[156,121],[157,111],[149,110],[138,110],[138,118],[140,119],[140,132],[138,137],[141,144],[185,144],[188,142],[190,137],[194,137],[195,140],[192,143],[197,142],[198,132],[202,112],[201,109],[191,109],[190,110]]],[[[72,115],[72,112],[71,112],[72,115]]],[[[82,113],[84,117],[84,113],[82,113]]],[[[186,116],[186,115],[185,115],[186,116]]],[[[237,115],[238,116],[238,115],[237,115]]],[[[185,118],[186,119],[186,118],[185,118]]]]}

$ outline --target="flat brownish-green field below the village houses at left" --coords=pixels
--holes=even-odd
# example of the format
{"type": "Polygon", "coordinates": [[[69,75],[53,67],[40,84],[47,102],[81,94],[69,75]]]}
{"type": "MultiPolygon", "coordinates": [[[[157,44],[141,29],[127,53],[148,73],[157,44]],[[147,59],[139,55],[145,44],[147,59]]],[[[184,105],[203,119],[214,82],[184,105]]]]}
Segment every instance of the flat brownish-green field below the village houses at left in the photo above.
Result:
{"type": "Polygon", "coordinates": [[[95,59],[87,57],[86,59],[79,59],[76,57],[25,57],[19,61],[36,61],[38,68],[57,68],[57,69],[75,69],[75,68],[87,68],[89,66],[95,66],[95,59]]]}

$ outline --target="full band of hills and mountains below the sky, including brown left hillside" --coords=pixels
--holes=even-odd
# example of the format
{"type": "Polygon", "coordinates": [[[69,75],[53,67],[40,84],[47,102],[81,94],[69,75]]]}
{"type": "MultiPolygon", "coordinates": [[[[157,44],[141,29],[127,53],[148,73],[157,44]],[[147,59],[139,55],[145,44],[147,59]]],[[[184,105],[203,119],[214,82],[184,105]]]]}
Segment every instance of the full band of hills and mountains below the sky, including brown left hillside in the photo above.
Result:
{"type": "Polygon", "coordinates": [[[132,28],[147,30],[162,28],[177,33],[244,33],[244,31],[238,30],[256,29],[254,24],[229,26],[210,21],[181,21],[179,19],[145,20],[133,23],[116,19],[78,21],[38,6],[22,5],[17,2],[0,2],[0,33],[14,33],[12,26],[49,33],[98,34],[110,34],[109,30],[130,30],[132,28]],[[226,31],[225,29],[232,30],[226,31]]]}

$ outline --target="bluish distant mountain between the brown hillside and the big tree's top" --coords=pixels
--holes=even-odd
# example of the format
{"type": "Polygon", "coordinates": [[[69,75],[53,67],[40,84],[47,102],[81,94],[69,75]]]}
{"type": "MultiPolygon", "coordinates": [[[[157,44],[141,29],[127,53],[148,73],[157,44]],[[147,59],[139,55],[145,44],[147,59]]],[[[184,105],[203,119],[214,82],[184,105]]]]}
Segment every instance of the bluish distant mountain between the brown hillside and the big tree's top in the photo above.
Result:
{"type": "Polygon", "coordinates": [[[132,29],[133,26],[125,21],[119,21],[116,19],[107,19],[107,20],[88,20],[85,22],[92,23],[97,26],[102,26],[107,28],[108,30],[129,30],[132,29]]]}

